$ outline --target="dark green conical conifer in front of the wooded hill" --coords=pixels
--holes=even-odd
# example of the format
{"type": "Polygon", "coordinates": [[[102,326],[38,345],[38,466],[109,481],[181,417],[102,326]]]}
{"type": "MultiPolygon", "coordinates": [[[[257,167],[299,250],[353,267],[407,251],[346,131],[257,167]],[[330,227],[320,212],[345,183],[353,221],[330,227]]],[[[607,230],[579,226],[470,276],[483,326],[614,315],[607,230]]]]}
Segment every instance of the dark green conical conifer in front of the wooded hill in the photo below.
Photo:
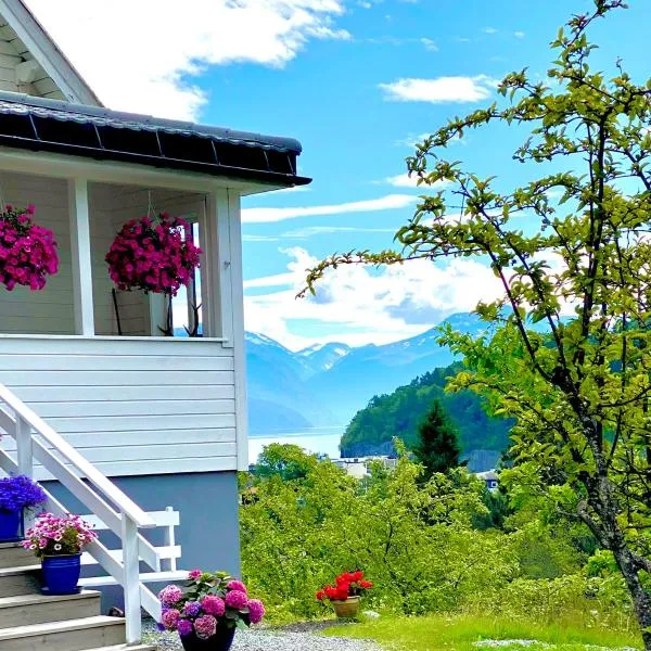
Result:
{"type": "Polygon", "coordinates": [[[434,473],[446,472],[461,463],[457,432],[438,400],[434,400],[418,426],[418,442],[413,447],[413,455],[419,463],[423,464],[426,480],[434,473]]]}

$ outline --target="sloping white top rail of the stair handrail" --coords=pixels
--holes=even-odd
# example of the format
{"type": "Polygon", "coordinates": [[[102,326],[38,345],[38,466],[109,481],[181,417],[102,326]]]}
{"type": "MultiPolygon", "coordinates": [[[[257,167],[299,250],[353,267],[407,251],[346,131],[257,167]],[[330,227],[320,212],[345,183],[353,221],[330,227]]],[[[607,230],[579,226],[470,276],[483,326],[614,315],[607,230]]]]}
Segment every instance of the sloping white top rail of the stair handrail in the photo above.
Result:
{"type": "Polygon", "coordinates": [[[139,528],[153,528],[156,523],[113,482],[82,457],[61,434],[55,432],[40,416],[4,384],[0,384],[0,401],[10,407],[16,416],[31,425],[68,463],[72,463],[91,484],[94,484],[129,520],[139,528]]]}

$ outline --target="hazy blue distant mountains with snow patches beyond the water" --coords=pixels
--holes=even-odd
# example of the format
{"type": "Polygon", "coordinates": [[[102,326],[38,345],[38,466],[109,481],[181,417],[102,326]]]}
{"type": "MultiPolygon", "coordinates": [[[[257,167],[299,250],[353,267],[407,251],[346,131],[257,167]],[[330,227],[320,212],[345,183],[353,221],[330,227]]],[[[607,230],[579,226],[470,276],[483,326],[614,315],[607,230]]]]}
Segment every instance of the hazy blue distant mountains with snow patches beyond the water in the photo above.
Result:
{"type": "MultiPolygon", "coordinates": [[[[444,323],[474,335],[486,326],[478,317],[456,314],[444,323]]],[[[341,425],[374,395],[391,393],[418,375],[449,366],[454,356],[436,343],[433,328],[420,335],[376,346],[352,348],[328,343],[296,353],[275,340],[245,336],[250,430],[253,435],[341,425]]]]}

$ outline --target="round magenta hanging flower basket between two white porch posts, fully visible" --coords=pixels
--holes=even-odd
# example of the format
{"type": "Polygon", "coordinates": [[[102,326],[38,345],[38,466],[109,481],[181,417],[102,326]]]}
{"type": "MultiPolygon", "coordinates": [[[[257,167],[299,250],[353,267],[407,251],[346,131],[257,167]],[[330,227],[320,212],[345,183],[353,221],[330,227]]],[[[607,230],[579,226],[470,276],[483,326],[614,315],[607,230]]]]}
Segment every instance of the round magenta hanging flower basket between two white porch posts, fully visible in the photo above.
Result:
{"type": "Polygon", "coordinates": [[[106,254],[111,280],[118,290],[176,296],[192,280],[202,253],[190,232],[184,219],[168,213],[127,221],[106,254]]]}

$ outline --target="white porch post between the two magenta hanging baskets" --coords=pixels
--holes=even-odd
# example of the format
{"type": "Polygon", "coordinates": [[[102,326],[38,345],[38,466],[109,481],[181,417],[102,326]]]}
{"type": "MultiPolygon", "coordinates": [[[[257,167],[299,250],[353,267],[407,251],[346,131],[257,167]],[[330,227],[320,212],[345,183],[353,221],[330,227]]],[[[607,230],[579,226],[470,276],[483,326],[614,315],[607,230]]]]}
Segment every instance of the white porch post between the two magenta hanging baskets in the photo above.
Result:
{"type": "Polygon", "coordinates": [[[88,181],[68,180],[75,333],[94,336],[88,181]]]}

